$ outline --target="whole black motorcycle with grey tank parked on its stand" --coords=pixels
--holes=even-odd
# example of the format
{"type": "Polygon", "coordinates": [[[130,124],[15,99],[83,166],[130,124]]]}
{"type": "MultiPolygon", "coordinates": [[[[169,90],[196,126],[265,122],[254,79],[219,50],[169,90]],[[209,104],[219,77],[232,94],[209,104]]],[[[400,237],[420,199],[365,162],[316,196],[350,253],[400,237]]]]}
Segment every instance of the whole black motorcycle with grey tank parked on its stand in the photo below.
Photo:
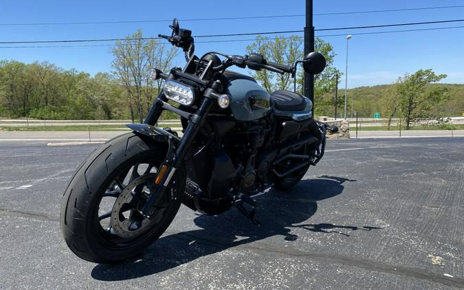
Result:
{"type": "Polygon", "coordinates": [[[169,74],[144,124],[115,137],[78,168],[65,190],[60,226],[74,254],[115,263],[140,254],[163,234],[181,203],[203,214],[232,207],[254,219],[254,197],[268,188],[294,186],[324,155],[326,124],[312,115],[312,102],[291,91],[267,93],[254,78],[228,71],[267,69],[295,78],[302,63],[309,74],[325,67],[312,52],[294,66],[258,54],[194,54],[192,32],[176,19],[171,36],[184,50],[184,69],[169,74]],[[169,104],[168,100],[171,100],[169,104]],[[173,105],[178,104],[178,105],[173,105]],[[155,126],[162,111],[181,116],[182,132],[155,126]]]}

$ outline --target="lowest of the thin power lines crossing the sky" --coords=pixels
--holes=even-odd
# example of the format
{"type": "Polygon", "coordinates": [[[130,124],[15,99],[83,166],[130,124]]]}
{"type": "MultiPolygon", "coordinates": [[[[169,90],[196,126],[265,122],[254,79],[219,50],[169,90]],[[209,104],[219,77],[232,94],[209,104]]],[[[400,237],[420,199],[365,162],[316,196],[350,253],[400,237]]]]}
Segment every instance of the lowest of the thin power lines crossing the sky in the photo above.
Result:
{"type": "MultiPolygon", "coordinates": [[[[434,27],[434,28],[419,28],[413,30],[389,30],[389,31],[379,31],[379,32],[358,32],[351,33],[351,35],[369,35],[369,34],[389,34],[389,33],[400,33],[400,32],[418,32],[418,31],[429,31],[429,30],[449,30],[456,28],[464,28],[463,26],[450,26],[450,27],[434,27]]],[[[316,35],[317,37],[330,37],[330,36],[346,36],[346,34],[325,34],[325,35],[316,35]]],[[[290,37],[284,37],[289,39],[290,37]]],[[[297,38],[303,38],[302,36],[297,36],[297,38]]],[[[245,42],[245,41],[256,41],[256,38],[247,38],[247,39],[224,39],[218,41],[197,41],[197,43],[230,43],[230,42],[245,42]]],[[[170,43],[161,43],[162,45],[170,45],[170,43]]],[[[97,44],[97,45],[27,45],[27,46],[0,46],[1,48],[46,48],[46,47],[111,47],[113,44],[97,44]]]]}

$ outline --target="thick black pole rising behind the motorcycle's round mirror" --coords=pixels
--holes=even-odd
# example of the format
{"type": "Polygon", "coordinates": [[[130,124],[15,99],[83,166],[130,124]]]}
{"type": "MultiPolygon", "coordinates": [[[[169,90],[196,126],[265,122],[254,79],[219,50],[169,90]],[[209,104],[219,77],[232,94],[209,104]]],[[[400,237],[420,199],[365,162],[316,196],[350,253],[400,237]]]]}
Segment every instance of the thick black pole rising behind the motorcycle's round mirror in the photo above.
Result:
{"type": "MultiPolygon", "coordinates": [[[[306,0],[305,55],[309,52],[314,52],[313,0],[306,0]]],[[[314,75],[305,72],[303,84],[304,95],[313,102],[314,113],[314,75]]]]}

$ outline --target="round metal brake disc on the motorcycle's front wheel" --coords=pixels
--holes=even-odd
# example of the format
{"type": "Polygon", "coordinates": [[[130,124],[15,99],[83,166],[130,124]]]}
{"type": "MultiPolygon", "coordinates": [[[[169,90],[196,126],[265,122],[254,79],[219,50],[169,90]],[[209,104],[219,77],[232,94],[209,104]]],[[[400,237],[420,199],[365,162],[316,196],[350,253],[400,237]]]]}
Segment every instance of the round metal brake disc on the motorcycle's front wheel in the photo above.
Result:
{"type": "Polygon", "coordinates": [[[111,227],[113,232],[121,238],[136,238],[159,222],[160,218],[156,217],[162,216],[165,209],[160,204],[153,206],[150,218],[142,214],[143,205],[149,194],[155,191],[155,177],[155,173],[137,177],[122,190],[116,199],[111,211],[111,227]]]}

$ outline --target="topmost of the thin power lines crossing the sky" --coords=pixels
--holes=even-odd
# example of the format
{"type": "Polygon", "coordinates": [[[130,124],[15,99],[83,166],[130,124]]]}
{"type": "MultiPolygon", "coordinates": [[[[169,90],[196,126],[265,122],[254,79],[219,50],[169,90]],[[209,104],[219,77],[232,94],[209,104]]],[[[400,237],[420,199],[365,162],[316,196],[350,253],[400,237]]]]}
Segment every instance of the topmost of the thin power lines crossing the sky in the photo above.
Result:
{"type": "MultiPolygon", "coordinates": [[[[314,14],[314,16],[367,14],[367,13],[383,13],[383,12],[416,11],[416,10],[437,10],[437,9],[463,8],[463,7],[464,5],[452,5],[452,6],[434,6],[434,7],[421,7],[421,8],[399,8],[399,9],[388,9],[388,10],[329,12],[329,13],[314,14]]],[[[246,20],[246,19],[272,19],[272,18],[289,18],[289,17],[301,17],[301,16],[305,16],[305,14],[179,19],[179,21],[222,21],[222,20],[246,20]]],[[[0,23],[0,26],[131,24],[131,23],[159,23],[159,22],[170,22],[170,21],[172,21],[172,19],[148,19],[148,20],[129,20],[129,21],[87,21],[87,22],[76,21],[76,22],[43,22],[43,23],[0,23]]]]}

